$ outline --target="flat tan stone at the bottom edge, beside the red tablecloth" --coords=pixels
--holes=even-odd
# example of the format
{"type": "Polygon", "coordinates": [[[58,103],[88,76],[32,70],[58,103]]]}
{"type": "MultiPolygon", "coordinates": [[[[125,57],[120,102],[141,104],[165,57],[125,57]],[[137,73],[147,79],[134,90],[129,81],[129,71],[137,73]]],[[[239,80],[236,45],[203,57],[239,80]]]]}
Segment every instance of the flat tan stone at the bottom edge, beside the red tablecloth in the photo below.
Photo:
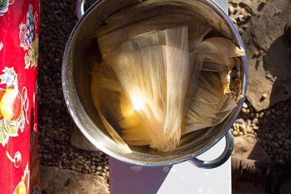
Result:
{"type": "Polygon", "coordinates": [[[43,194],[109,194],[107,181],[101,176],[40,166],[40,177],[43,194]]]}

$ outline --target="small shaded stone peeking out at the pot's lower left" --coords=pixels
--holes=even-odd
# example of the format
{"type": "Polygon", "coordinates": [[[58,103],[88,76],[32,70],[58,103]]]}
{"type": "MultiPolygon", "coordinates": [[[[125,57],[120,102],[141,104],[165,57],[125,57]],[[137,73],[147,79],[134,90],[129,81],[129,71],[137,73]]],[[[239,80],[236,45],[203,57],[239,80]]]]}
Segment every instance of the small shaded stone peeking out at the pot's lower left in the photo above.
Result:
{"type": "Polygon", "coordinates": [[[91,144],[87,138],[85,138],[73,122],[70,124],[70,130],[70,143],[72,146],[87,151],[100,151],[97,147],[91,144]]]}

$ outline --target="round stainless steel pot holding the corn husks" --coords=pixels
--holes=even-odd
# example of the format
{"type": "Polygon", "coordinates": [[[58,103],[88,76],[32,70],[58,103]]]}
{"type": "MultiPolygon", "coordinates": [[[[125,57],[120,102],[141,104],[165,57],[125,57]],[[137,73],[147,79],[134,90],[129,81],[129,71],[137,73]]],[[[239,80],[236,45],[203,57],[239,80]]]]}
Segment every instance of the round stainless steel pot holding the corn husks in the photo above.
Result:
{"type": "MultiPolygon", "coordinates": [[[[218,126],[199,130],[196,138],[183,148],[166,153],[156,153],[145,148],[132,148],[132,153],[123,153],[104,129],[97,110],[91,99],[92,64],[100,61],[96,32],[106,18],[121,8],[140,0],[97,0],[84,14],[84,0],[77,0],[76,12],[80,20],[73,29],[64,53],[62,66],[62,84],[65,102],[75,124],[83,135],[97,148],[109,156],[123,162],[146,166],[163,166],[190,161],[201,168],[217,167],[230,157],[233,149],[233,137],[229,131],[242,108],[247,87],[247,61],[241,58],[240,76],[242,79],[242,98],[239,106],[218,126]],[[214,146],[226,137],[223,154],[213,161],[200,161],[195,157],[214,146]]],[[[244,48],[235,25],[227,14],[213,0],[191,0],[197,5],[197,11],[206,17],[215,16],[217,25],[237,46],[244,48]]],[[[212,17],[213,18],[213,17],[212,17]]]]}

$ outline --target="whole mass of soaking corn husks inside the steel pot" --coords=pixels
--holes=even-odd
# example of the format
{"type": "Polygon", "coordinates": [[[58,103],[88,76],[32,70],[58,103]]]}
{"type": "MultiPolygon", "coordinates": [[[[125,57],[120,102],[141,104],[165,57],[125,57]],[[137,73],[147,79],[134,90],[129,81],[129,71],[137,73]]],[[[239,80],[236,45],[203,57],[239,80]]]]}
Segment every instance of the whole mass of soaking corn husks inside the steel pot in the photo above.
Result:
{"type": "Polygon", "coordinates": [[[146,0],[120,10],[97,32],[104,62],[93,71],[92,91],[98,89],[92,97],[126,151],[127,144],[175,150],[194,138],[192,131],[218,125],[237,106],[240,80],[230,72],[244,50],[224,37],[203,40],[225,24],[210,10],[202,16],[201,6],[146,0]]]}

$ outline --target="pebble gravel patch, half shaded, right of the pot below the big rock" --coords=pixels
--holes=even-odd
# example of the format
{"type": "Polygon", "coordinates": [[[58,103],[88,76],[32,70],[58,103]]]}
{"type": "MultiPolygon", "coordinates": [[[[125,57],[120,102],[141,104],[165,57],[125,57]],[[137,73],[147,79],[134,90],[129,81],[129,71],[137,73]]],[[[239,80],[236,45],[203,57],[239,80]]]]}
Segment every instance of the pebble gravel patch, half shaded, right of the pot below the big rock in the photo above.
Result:
{"type": "Polygon", "coordinates": [[[243,107],[232,134],[253,134],[272,160],[291,160],[291,98],[259,113],[247,102],[243,107]]]}

